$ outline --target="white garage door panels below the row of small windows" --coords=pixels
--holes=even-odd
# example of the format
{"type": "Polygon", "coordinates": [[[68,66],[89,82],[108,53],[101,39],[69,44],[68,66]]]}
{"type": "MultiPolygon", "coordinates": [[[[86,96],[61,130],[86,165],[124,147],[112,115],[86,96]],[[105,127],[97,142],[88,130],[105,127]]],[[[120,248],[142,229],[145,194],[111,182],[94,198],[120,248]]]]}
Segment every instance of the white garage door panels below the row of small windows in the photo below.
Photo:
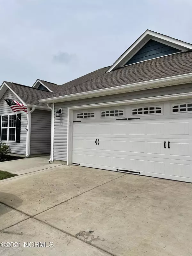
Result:
{"type": "Polygon", "coordinates": [[[74,164],[192,182],[191,119],[73,125],[74,164]]]}

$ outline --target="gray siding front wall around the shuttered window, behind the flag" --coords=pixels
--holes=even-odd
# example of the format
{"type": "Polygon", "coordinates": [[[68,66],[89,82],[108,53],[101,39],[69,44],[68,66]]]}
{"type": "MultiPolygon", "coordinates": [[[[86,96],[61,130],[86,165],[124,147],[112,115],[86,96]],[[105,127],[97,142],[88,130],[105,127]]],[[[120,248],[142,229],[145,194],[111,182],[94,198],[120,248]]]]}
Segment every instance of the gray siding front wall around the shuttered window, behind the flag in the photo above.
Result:
{"type": "MultiPolygon", "coordinates": [[[[20,100],[17,99],[17,97],[9,89],[6,90],[6,92],[4,93],[3,97],[0,100],[0,115],[14,114],[11,108],[8,106],[8,104],[4,101],[4,98],[17,100],[19,102],[20,100]]],[[[21,122],[27,128],[27,114],[23,111],[17,112],[17,113],[21,113],[21,122]]],[[[25,155],[26,154],[26,137],[27,137],[27,131],[21,124],[20,143],[10,142],[10,141],[6,141],[5,143],[10,146],[13,154],[25,155]]]]}

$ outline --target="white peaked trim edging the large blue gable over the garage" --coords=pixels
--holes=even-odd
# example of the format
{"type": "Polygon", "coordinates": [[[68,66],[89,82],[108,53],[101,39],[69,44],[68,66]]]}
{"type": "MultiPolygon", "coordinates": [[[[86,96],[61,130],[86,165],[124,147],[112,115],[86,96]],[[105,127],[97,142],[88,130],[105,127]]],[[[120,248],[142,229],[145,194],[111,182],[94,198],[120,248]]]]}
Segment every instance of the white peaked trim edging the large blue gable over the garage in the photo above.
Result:
{"type": "Polygon", "coordinates": [[[170,36],[165,36],[151,30],[146,30],[120,57],[116,62],[106,71],[106,73],[121,68],[127,63],[150,39],[159,43],[171,46],[180,51],[192,51],[192,44],[180,41],[170,36]]]}

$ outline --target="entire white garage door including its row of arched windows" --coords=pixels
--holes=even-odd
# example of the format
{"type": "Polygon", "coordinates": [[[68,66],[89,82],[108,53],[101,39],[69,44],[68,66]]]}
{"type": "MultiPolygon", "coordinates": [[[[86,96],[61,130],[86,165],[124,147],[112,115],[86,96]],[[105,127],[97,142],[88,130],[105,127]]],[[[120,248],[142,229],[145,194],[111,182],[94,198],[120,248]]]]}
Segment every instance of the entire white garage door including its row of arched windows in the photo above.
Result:
{"type": "Polygon", "coordinates": [[[189,107],[190,103],[167,102],[74,111],[72,162],[192,182],[192,118],[186,118],[191,115],[189,107]]]}

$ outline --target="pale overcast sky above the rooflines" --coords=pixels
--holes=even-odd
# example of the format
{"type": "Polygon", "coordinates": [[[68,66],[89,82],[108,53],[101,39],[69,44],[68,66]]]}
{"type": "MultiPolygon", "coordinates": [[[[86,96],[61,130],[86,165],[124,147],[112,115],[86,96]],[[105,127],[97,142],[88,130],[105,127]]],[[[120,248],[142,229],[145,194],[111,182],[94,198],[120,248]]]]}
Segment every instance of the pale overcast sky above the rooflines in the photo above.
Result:
{"type": "Polygon", "coordinates": [[[146,30],[192,43],[191,0],[0,0],[0,84],[64,84],[112,65],[146,30]]]}

